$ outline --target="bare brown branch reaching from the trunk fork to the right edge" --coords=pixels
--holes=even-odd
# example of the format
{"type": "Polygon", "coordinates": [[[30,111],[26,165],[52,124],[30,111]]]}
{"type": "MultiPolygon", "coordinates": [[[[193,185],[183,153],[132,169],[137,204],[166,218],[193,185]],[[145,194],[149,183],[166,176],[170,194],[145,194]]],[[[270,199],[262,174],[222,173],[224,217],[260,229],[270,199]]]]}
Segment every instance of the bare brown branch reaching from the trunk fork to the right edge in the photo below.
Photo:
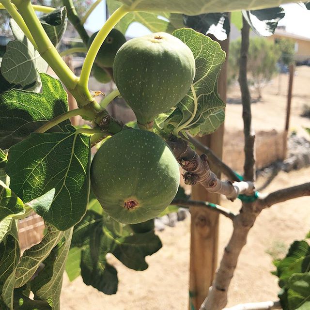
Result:
{"type": "Polygon", "coordinates": [[[272,192],[264,198],[259,199],[256,202],[256,207],[259,210],[262,210],[264,208],[269,208],[273,204],[285,202],[287,200],[303,196],[310,196],[310,182],[292,187],[282,188],[275,192],[272,192]]]}

